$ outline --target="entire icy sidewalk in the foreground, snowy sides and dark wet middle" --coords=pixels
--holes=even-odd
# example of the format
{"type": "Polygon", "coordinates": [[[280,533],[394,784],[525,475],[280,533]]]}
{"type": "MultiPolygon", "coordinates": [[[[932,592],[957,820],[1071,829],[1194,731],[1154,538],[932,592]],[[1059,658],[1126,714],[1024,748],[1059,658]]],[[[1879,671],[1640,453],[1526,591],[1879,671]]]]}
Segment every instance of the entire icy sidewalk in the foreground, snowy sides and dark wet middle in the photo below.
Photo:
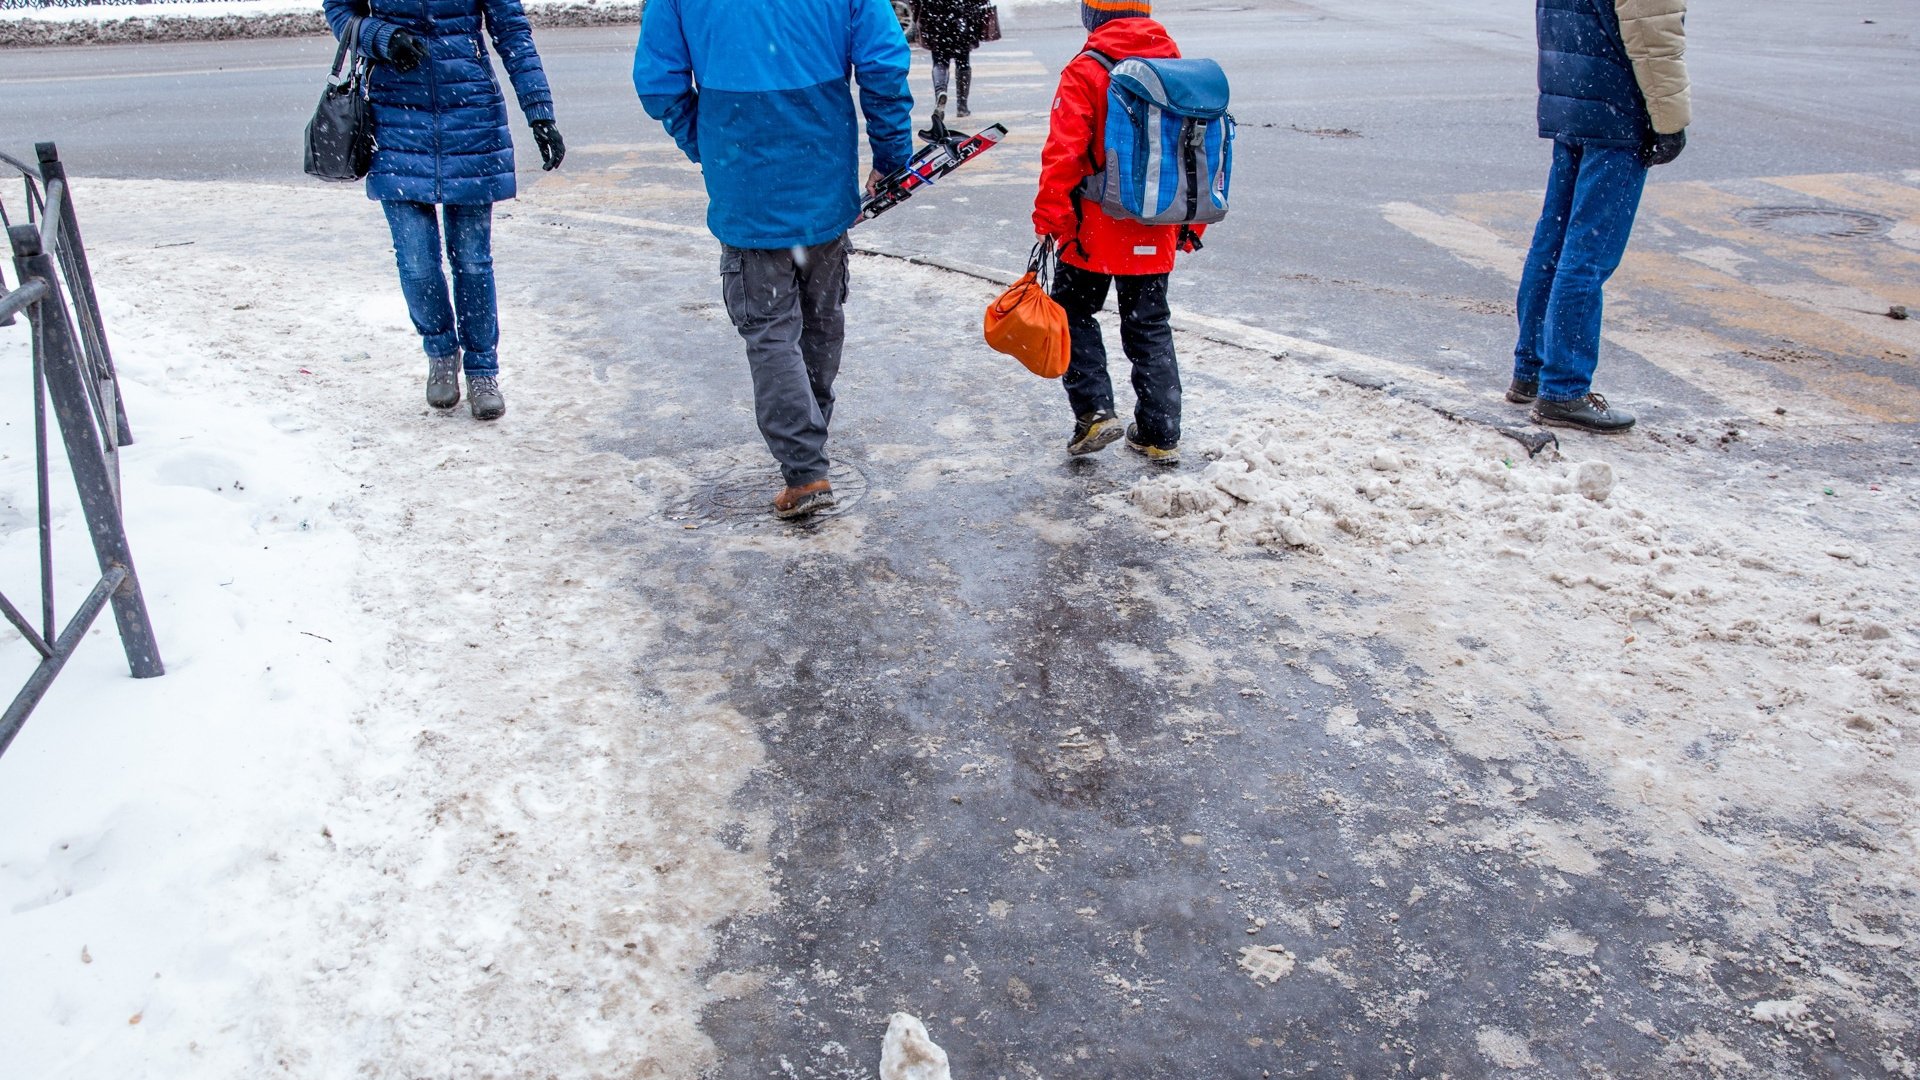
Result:
{"type": "Polygon", "coordinates": [[[0,759],[27,1074],[860,1076],[895,1009],[960,1076],[1920,1055],[1905,480],[1192,336],[1188,465],[1068,463],[993,288],[860,258],[789,528],[697,192],[501,208],[490,427],[359,192],[79,198],[173,671],[90,642],[0,759]]]}

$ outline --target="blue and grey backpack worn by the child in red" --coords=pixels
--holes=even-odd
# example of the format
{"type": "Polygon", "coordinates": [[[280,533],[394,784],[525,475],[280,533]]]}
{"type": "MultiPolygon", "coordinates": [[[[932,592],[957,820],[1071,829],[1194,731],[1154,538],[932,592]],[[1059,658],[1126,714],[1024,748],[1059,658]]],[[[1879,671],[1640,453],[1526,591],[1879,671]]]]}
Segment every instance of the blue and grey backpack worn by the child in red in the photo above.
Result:
{"type": "Polygon", "coordinates": [[[1227,217],[1233,117],[1227,73],[1212,60],[1114,60],[1106,90],[1106,169],[1079,194],[1114,217],[1146,225],[1204,225],[1227,217]]]}

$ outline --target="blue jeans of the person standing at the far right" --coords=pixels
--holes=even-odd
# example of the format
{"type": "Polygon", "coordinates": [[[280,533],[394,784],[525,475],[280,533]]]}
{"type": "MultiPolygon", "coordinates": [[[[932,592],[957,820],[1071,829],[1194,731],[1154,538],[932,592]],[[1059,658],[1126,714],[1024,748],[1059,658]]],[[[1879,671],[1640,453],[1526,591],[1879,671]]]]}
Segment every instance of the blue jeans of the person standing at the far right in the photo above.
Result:
{"type": "Polygon", "coordinates": [[[1553,142],[1548,202],[1521,273],[1513,377],[1574,402],[1599,367],[1601,288],[1626,254],[1647,169],[1634,150],[1553,142]]]}

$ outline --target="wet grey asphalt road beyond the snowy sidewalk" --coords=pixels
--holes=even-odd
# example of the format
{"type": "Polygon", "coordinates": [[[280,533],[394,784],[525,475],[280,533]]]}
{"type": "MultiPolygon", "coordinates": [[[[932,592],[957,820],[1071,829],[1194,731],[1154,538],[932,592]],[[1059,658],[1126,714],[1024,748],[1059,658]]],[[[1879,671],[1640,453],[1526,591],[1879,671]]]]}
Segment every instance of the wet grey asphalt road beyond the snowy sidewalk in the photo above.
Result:
{"type": "MultiPolygon", "coordinates": [[[[1390,356],[1471,390],[1503,384],[1513,281],[1463,261],[1430,236],[1409,234],[1382,208],[1432,208],[1455,223],[1492,225],[1507,244],[1524,246],[1548,167],[1548,146],[1532,131],[1528,8],[1500,0],[1173,0],[1162,4],[1162,15],[1188,54],[1227,65],[1240,119],[1233,225],[1206,254],[1183,261],[1173,302],[1390,356]]],[[[1006,121],[1014,144],[970,169],[977,186],[966,188],[966,204],[899,211],[866,242],[996,267],[1025,259],[1035,140],[1044,131],[1054,73],[1081,31],[1068,4],[1008,12],[1006,23],[1008,38],[979,56],[975,108],[981,123],[1006,121]]],[[[1636,250],[1676,256],[1695,277],[1676,284],[1668,273],[1645,288],[1620,281],[1613,300],[1622,317],[1645,307],[1684,331],[1713,334],[1716,357],[1684,367],[1663,356],[1692,350],[1686,334],[1640,350],[1613,346],[1603,388],[1655,421],[1770,415],[1776,402],[1761,400],[1770,386],[1809,379],[1780,357],[1811,352],[1849,384],[1836,421],[1905,421],[1866,434],[1910,450],[1912,421],[1920,419],[1920,344],[1910,334],[1870,327],[1868,342],[1834,344],[1830,334],[1809,338],[1807,311],[1788,307],[1755,325],[1743,307],[1768,302],[1768,294],[1757,290],[1753,275],[1741,282],[1743,294],[1722,298],[1715,290],[1724,282],[1686,261],[1690,252],[1734,248],[1763,265],[1784,258],[1782,281],[1830,286],[1820,259],[1901,250],[1868,240],[1793,252],[1782,250],[1791,248],[1789,236],[1764,233],[1730,242],[1680,211],[1711,206],[1722,213],[1726,192],[1715,184],[1734,184],[1736,202],[1753,206],[1908,213],[1903,198],[1809,198],[1755,181],[1920,169],[1912,138],[1903,136],[1920,113],[1920,85],[1907,77],[1920,52],[1916,35],[1920,15],[1899,0],[1695,6],[1693,140],[1676,165],[1655,175],[1636,234],[1636,250]],[[1703,290],[1705,300],[1670,311],[1674,288],[1703,290]],[[1893,361],[1880,356],[1889,346],[1893,361]]],[[[632,98],[632,40],[630,27],[547,31],[540,38],[576,179],[607,179],[609,169],[630,167],[636,152],[651,165],[670,163],[664,135],[632,98]]],[[[298,181],[300,127],[328,60],[324,40],[6,52],[0,146],[25,152],[33,138],[58,136],[77,175],[298,181]]],[[[916,94],[925,92],[920,83],[924,75],[916,75],[916,94]]],[[[515,127],[518,144],[530,148],[518,119],[515,127]]],[[[538,183],[528,165],[538,158],[522,154],[520,161],[524,183],[538,183]]],[[[693,181],[659,167],[618,179],[693,181]]],[[[697,202],[660,215],[701,223],[697,202]]],[[[1780,277],[1780,267],[1766,275],[1780,277]]],[[[1884,284],[1872,300],[1882,309],[1887,302],[1920,306],[1912,246],[1880,267],[1878,281],[1884,284]]],[[[1814,315],[1845,319],[1845,306],[1824,300],[1814,315]]],[[[1469,398],[1453,392],[1450,404],[1467,405],[1469,398]]],[[[1849,438],[1849,452],[1853,444],[1849,438]]]]}

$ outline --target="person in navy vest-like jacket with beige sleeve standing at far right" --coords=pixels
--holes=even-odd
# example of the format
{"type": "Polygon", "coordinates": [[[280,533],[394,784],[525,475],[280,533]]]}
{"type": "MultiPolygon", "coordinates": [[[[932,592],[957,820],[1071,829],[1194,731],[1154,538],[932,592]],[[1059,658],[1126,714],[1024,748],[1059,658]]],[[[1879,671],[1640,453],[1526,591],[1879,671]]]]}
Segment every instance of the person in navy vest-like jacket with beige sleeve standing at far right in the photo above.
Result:
{"type": "Polygon", "coordinates": [[[1626,254],[1647,169],[1692,123],[1686,0],[1538,0],[1546,208],[1521,275],[1507,400],[1551,427],[1617,432],[1632,413],[1594,394],[1601,290],[1626,254]]]}

